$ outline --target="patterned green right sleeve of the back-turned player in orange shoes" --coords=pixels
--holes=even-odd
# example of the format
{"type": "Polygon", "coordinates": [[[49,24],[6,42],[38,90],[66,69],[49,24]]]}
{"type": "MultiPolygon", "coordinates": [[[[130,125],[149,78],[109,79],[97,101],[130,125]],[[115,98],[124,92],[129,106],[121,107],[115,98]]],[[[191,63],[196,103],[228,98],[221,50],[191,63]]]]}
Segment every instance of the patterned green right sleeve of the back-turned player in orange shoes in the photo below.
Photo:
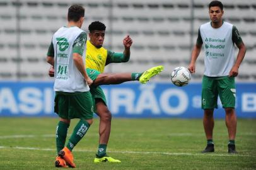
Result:
{"type": "Polygon", "coordinates": [[[82,32],[78,36],[78,38],[74,40],[73,53],[78,53],[80,55],[83,55],[86,40],[87,40],[87,35],[85,32],[82,32]]]}

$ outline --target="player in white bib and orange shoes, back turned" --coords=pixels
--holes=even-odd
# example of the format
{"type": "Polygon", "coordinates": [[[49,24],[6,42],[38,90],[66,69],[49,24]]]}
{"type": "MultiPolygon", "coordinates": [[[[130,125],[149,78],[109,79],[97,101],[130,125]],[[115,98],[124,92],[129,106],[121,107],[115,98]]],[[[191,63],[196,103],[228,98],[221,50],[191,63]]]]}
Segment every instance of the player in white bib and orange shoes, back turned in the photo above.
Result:
{"type": "Polygon", "coordinates": [[[72,150],[93,123],[93,101],[89,88],[93,81],[84,70],[87,39],[86,33],[81,30],[84,8],[71,6],[67,20],[67,26],[54,33],[47,53],[47,62],[56,68],[54,111],[61,119],[56,129],[56,167],[76,167],[72,150]],[[65,146],[67,129],[73,118],[80,121],[65,146]]]}

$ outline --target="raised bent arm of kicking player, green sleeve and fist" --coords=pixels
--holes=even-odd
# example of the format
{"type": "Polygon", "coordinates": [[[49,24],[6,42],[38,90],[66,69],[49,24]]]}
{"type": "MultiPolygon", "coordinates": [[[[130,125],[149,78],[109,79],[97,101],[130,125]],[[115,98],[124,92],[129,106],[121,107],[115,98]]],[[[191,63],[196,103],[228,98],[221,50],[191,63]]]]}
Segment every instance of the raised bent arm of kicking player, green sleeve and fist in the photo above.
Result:
{"type": "Polygon", "coordinates": [[[110,63],[120,63],[120,62],[127,62],[130,59],[131,51],[130,47],[132,45],[132,38],[127,35],[124,40],[124,52],[123,53],[115,53],[110,50],[107,52],[107,60],[106,64],[108,65],[110,63]]]}

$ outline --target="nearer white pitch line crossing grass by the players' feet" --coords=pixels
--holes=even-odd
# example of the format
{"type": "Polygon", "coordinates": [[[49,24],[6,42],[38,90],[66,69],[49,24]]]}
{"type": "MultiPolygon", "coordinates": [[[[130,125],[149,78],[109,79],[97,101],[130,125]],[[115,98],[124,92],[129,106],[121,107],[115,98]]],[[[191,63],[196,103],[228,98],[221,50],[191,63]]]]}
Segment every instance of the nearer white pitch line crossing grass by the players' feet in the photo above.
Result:
{"type": "MultiPolygon", "coordinates": [[[[38,147],[7,147],[0,146],[0,149],[21,149],[21,150],[50,150],[55,151],[56,149],[51,148],[38,148],[38,147]]],[[[95,152],[95,150],[82,150],[76,149],[76,152],[95,152]]],[[[238,156],[238,157],[252,157],[249,155],[241,155],[241,154],[191,154],[191,153],[171,153],[171,152],[137,152],[137,151],[117,151],[117,150],[108,150],[108,152],[119,153],[119,154],[158,154],[158,155],[168,155],[168,156],[238,156]]]]}

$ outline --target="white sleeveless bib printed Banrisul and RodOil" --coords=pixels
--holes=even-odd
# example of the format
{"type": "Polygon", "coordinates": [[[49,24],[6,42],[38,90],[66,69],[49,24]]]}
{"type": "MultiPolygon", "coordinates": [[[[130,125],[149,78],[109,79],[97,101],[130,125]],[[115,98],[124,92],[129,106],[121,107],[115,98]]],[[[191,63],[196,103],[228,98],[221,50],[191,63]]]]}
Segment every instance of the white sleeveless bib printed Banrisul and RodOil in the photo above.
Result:
{"type": "Polygon", "coordinates": [[[235,62],[235,46],[232,40],[233,25],[224,22],[212,28],[211,22],[200,26],[204,45],[204,75],[209,77],[228,76],[235,62]]]}

